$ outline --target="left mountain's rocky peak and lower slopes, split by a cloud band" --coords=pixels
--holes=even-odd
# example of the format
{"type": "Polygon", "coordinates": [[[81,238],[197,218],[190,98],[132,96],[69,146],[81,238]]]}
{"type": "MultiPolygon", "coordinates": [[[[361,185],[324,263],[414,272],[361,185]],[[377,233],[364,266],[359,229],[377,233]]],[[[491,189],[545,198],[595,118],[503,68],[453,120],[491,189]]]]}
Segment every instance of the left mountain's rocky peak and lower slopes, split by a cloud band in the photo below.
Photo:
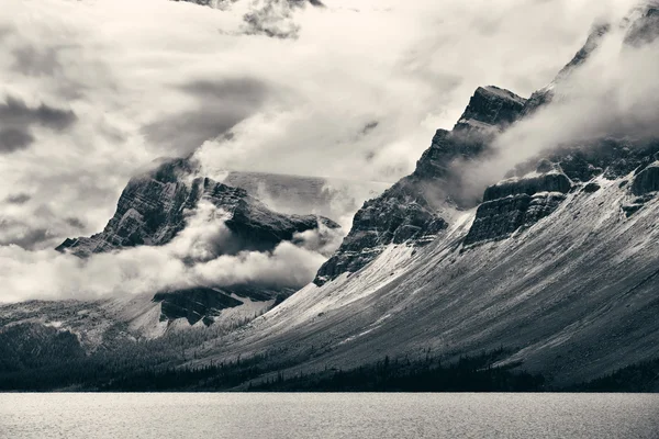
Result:
{"type": "MultiPolygon", "coordinates": [[[[103,232],[91,237],[67,238],[57,250],[89,258],[137,246],[165,246],[186,230],[190,217],[202,204],[217,209],[231,233],[228,238],[214,243],[211,259],[245,251],[269,252],[283,241],[297,243],[301,233],[319,227],[339,228],[323,216],[273,212],[246,190],[199,177],[197,172],[193,161],[172,159],[134,177],[103,232]]],[[[320,237],[324,239],[322,232],[320,237]]],[[[161,337],[168,330],[187,326],[214,326],[214,330],[237,327],[276,306],[293,291],[277,284],[245,283],[191,285],[129,299],[34,301],[0,307],[0,320],[12,326],[67,330],[77,336],[83,349],[96,350],[131,339],[161,337]]]]}

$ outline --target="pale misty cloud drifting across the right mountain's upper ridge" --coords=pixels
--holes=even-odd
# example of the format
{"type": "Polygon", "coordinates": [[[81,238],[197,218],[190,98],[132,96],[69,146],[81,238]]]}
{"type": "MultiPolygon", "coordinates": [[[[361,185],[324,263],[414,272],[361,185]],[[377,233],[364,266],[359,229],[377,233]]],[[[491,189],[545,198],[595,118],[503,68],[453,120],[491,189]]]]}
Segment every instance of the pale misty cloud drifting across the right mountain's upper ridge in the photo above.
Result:
{"type": "Polygon", "coordinates": [[[501,134],[487,160],[461,170],[471,191],[561,147],[589,147],[607,137],[644,145],[659,137],[659,41],[632,41],[637,22],[618,22],[585,61],[551,86],[551,103],[501,134]]]}

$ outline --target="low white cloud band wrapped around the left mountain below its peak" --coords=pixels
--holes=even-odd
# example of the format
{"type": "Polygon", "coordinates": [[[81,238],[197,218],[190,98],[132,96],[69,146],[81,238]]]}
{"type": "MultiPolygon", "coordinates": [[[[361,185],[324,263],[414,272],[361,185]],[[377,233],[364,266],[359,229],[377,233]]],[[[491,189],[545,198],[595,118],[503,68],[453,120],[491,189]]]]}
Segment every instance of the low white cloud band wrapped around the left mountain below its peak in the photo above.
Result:
{"type": "Polygon", "coordinates": [[[80,259],[55,250],[0,246],[0,302],[30,299],[99,299],[155,293],[190,285],[300,288],[309,283],[339,243],[320,228],[283,241],[272,251],[219,255],[231,239],[222,211],[202,203],[188,227],[161,247],[135,247],[80,259]],[[324,254],[324,255],[323,255],[324,254]]]}

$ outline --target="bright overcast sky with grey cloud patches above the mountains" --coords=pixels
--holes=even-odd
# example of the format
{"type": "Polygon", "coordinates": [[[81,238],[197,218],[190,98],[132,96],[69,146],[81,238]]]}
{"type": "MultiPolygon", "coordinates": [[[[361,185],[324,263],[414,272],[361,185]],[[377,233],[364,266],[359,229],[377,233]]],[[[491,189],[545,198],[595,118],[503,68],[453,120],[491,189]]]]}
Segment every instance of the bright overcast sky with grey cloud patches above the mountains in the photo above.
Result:
{"type": "MultiPolygon", "coordinates": [[[[0,2],[0,280],[20,291],[5,301],[86,294],[93,270],[52,248],[101,230],[127,180],[156,158],[194,155],[211,177],[395,182],[477,87],[528,97],[593,24],[633,4],[0,2]],[[54,286],[19,285],[34,270],[54,286]]],[[[313,251],[302,283],[322,263],[313,251]]],[[[91,295],[142,275],[103,258],[119,274],[91,295]]]]}

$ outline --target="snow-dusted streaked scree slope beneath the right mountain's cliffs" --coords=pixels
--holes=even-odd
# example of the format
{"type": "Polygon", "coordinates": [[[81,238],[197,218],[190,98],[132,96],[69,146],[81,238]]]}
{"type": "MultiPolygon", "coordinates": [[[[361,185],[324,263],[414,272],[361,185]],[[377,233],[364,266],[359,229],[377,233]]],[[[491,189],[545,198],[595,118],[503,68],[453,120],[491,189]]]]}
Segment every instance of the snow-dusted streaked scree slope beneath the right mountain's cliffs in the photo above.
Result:
{"type": "Polygon", "coordinates": [[[527,230],[465,250],[467,213],[415,255],[391,246],[349,278],[306,286],[209,358],[314,346],[322,353],[299,368],[320,370],[503,346],[507,361],[557,383],[657,358],[659,201],[627,217],[621,181],[600,179],[527,230]]]}

